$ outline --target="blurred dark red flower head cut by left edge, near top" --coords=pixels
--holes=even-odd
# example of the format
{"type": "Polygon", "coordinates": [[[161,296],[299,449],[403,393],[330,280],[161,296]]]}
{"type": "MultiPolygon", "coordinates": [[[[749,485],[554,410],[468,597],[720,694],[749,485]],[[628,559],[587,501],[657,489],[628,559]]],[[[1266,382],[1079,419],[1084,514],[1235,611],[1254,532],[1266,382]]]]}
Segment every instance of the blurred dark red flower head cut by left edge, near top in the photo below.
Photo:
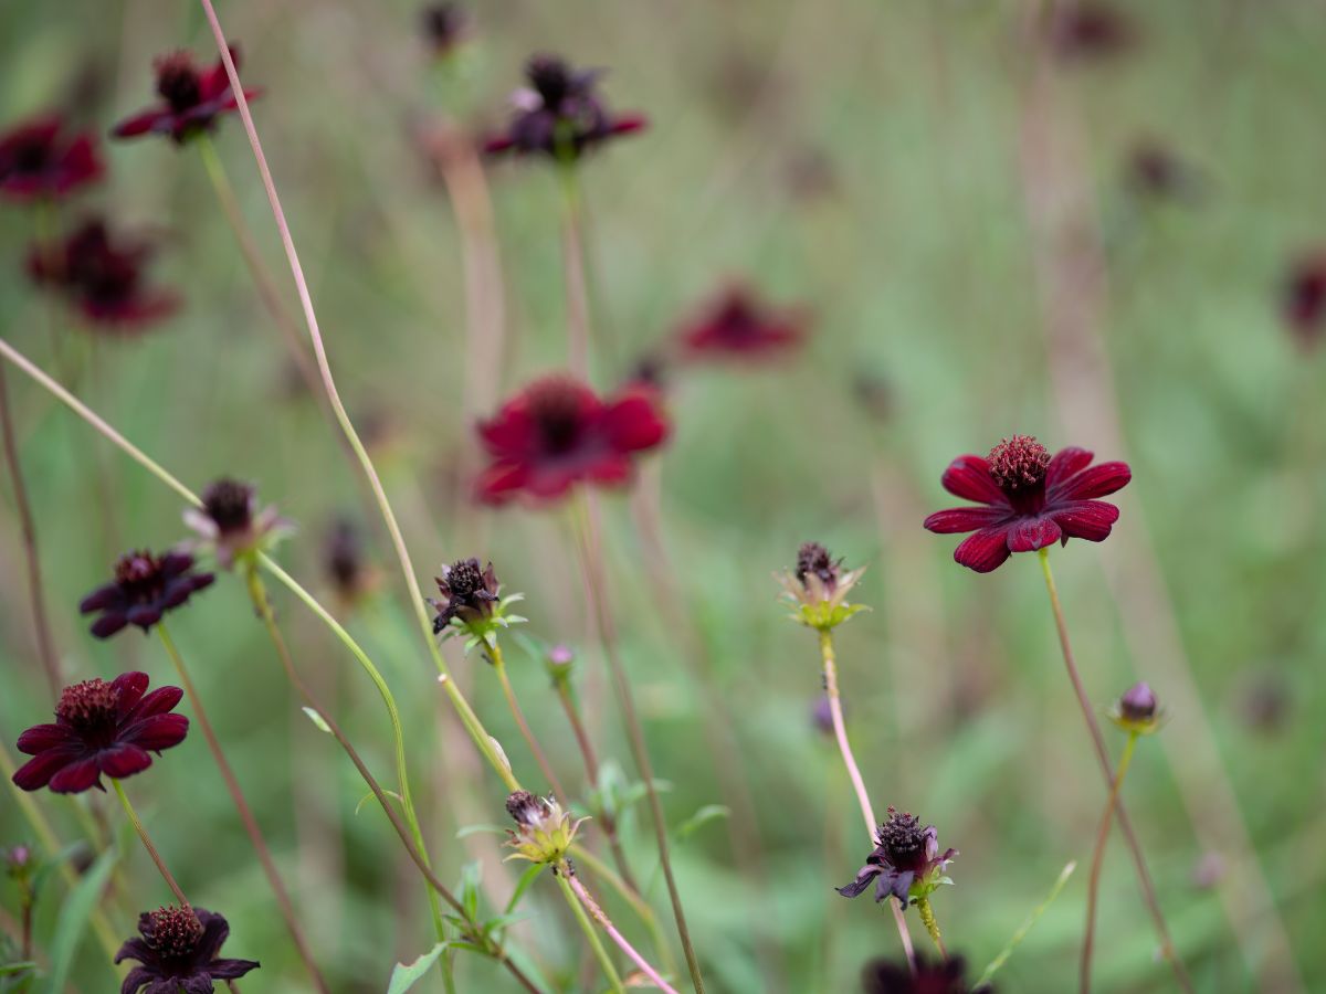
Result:
{"type": "Polygon", "coordinates": [[[101,179],[105,167],[97,139],[64,131],[65,122],[52,114],[0,135],[0,195],[11,200],[60,197],[101,179]]]}

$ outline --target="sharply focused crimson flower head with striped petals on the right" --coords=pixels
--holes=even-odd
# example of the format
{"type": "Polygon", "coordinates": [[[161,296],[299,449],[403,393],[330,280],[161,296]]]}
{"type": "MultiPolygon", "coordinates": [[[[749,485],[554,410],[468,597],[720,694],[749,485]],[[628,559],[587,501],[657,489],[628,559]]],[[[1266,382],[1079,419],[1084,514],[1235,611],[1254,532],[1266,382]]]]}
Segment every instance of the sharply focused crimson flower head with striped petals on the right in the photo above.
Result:
{"type": "Polygon", "coordinates": [[[953,508],[926,518],[937,534],[975,531],[953,559],[977,573],[997,569],[1010,553],[1030,553],[1054,542],[1086,538],[1102,542],[1119,509],[1095,500],[1123,489],[1132,478],[1127,463],[1087,468],[1093,455],[1066,448],[1050,453],[1029,435],[996,445],[988,459],[959,456],[944,470],[944,489],[984,508],[953,508]]]}

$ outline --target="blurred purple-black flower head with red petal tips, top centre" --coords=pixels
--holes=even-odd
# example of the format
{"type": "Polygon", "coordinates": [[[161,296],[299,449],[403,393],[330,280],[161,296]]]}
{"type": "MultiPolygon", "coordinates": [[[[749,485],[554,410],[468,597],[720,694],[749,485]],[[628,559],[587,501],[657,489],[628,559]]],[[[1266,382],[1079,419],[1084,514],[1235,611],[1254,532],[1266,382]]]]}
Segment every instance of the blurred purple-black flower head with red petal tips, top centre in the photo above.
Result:
{"type": "Polygon", "coordinates": [[[609,138],[642,130],[642,115],[607,110],[595,89],[599,74],[572,69],[557,56],[534,56],[525,65],[529,86],[512,95],[516,114],[507,134],[489,139],[484,150],[573,162],[609,138]]]}

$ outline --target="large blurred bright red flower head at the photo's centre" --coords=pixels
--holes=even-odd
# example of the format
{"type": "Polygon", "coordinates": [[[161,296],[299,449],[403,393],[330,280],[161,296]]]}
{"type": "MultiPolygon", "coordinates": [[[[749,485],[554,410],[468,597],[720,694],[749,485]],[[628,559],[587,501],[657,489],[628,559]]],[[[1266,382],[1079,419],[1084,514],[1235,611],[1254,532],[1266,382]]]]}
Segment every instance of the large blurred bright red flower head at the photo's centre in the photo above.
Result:
{"type": "Polygon", "coordinates": [[[548,376],[513,396],[479,425],[492,457],[477,481],[479,498],[504,504],[517,494],[553,500],[573,484],[621,485],[631,459],[668,435],[658,394],[639,384],[599,399],[568,376],[548,376]]]}

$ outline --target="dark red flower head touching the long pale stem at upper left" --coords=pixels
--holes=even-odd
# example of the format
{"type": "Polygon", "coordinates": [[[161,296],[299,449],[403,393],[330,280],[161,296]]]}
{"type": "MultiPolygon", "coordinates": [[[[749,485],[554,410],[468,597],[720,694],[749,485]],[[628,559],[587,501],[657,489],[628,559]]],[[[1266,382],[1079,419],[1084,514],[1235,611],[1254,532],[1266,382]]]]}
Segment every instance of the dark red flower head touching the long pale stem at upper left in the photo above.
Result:
{"type": "MultiPolygon", "coordinates": [[[[233,45],[231,58],[239,72],[240,52],[233,45]]],[[[221,60],[216,60],[216,65],[208,69],[199,69],[194,53],[180,50],[162,56],[152,68],[156,70],[156,93],[162,102],[121,121],[111,129],[113,138],[158,134],[170,135],[183,144],[194,135],[211,131],[221,114],[239,109],[221,60]]],[[[263,91],[244,90],[244,95],[256,99],[263,91]]]]}

